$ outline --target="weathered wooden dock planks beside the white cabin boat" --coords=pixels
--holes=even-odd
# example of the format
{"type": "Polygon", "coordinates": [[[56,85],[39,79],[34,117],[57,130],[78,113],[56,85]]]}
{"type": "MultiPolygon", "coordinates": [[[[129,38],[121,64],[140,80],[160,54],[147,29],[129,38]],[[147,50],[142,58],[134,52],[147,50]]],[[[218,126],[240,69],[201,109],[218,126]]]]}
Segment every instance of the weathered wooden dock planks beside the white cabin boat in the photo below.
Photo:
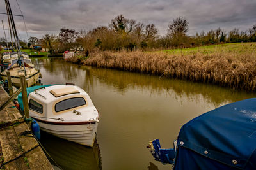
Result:
{"type": "MultiPolygon", "coordinates": [[[[8,99],[0,87],[0,105],[8,99]]],[[[30,131],[13,103],[0,111],[0,169],[53,169],[35,138],[20,135],[30,131]]]]}

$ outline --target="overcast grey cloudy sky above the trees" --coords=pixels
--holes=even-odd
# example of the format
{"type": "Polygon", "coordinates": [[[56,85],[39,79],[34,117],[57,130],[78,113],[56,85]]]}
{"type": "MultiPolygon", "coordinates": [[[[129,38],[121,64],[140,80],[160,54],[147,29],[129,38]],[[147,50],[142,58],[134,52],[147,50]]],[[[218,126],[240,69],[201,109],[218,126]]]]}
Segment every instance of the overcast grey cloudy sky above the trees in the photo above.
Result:
{"type": "MultiPolygon", "coordinates": [[[[221,27],[246,30],[256,24],[256,0],[17,0],[24,14],[28,36],[58,34],[61,27],[90,30],[108,25],[119,14],[136,22],[155,24],[159,34],[166,34],[168,23],[182,16],[189,21],[189,35],[221,27]]],[[[20,14],[16,0],[12,11],[20,14]]],[[[5,12],[0,1],[0,12],[5,12]]],[[[22,39],[27,39],[21,17],[15,23],[22,39]]],[[[6,15],[0,15],[7,27],[6,15]]],[[[1,26],[0,37],[3,37],[1,26]]]]}

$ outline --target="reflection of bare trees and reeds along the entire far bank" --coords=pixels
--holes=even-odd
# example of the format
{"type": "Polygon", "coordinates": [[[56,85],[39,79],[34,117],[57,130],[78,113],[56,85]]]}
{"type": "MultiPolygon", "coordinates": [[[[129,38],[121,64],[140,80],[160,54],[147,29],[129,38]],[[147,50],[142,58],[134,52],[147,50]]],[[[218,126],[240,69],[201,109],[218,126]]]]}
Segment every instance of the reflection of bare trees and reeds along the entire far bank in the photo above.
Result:
{"type": "Polygon", "coordinates": [[[234,102],[255,96],[254,93],[234,91],[216,85],[159,78],[157,76],[129,73],[125,71],[99,69],[90,66],[79,66],[56,58],[43,59],[43,64],[39,64],[38,59],[36,59],[35,66],[40,69],[44,66],[45,71],[49,71],[49,73],[54,76],[60,76],[60,74],[62,74],[65,80],[74,81],[77,80],[77,78],[79,78],[79,80],[84,80],[83,88],[92,91],[96,83],[93,79],[97,78],[100,83],[115,87],[118,92],[123,95],[127,92],[128,88],[132,88],[150,92],[152,96],[164,94],[168,97],[173,96],[174,94],[175,96],[184,96],[197,102],[198,97],[202,96],[208,103],[212,103],[216,107],[223,103],[234,102]],[[65,73],[63,71],[65,71],[65,73]]]}

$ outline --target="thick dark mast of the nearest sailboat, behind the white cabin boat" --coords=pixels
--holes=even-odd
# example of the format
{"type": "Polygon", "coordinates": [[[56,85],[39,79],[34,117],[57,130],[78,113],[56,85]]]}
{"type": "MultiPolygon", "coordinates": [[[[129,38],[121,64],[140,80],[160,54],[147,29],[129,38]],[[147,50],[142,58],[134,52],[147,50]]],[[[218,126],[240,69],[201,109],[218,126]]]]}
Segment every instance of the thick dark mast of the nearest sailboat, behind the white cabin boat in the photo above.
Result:
{"type": "Polygon", "coordinates": [[[9,2],[9,0],[5,0],[5,3],[6,3],[7,13],[8,13],[8,15],[10,15],[10,21],[11,21],[12,28],[13,28],[13,37],[15,38],[15,45],[16,45],[17,50],[18,50],[18,52],[17,52],[17,54],[18,54],[18,61],[17,62],[18,62],[20,67],[21,67],[21,65],[24,67],[25,76],[26,76],[26,68],[25,68],[23,56],[21,55],[19,36],[17,34],[15,22],[14,22],[14,19],[13,19],[10,2],[9,2]]]}

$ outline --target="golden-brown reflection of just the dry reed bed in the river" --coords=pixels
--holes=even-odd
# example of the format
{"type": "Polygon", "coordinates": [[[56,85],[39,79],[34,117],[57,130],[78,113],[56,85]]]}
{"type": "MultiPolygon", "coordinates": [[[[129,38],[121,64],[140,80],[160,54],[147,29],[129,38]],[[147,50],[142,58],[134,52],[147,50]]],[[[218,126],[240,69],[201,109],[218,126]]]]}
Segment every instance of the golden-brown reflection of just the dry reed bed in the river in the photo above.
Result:
{"type": "MultiPolygon", "coordinates": [[[[90,69],[90,67],[86,67],[86,73],[88,69],[90,69]]],[[[175,96],[187,97],[189,100],[195,101],[198,101],[198,97],[202,96],[207,102],[213,103],[216,107],[223,103],[234,102],[255,96],[253,93],[237,92],[216,85],[205,85],[203,83],[193,83],[191,81],[158,78],[156,76],[127,73],[125,71],[109,71],[109,69],[93,68],[90,69],[90,72],[97,76],[102,83],[116,87],[120,94],[125,94],[128,88],[132,88],[150,92],[152,96],[164,94],[168,97],[173,96],[174,94],[175,96]]],[[[91,76],[86,75],[86,77],[91,76]]],[[[94,86],[93,83],[91,83],[91,86],[94,86]]]]}

